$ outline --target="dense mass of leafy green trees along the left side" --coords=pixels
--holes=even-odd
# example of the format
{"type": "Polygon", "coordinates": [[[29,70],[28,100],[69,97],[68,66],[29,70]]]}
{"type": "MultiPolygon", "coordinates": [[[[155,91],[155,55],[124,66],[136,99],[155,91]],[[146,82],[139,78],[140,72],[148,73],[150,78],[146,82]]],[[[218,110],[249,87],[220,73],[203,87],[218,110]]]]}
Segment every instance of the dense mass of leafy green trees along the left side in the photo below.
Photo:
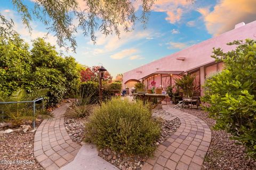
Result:
{"type": "Polygon", "coordinates": [[[54,46],[42,38],[33,41],[33,48],[18,35],[0,39],[0,91],[10,95],[22,87],[31,93],[47,88],[48,104],[75,94],[79,72],[75,58],[61,57],[54,46]]]}

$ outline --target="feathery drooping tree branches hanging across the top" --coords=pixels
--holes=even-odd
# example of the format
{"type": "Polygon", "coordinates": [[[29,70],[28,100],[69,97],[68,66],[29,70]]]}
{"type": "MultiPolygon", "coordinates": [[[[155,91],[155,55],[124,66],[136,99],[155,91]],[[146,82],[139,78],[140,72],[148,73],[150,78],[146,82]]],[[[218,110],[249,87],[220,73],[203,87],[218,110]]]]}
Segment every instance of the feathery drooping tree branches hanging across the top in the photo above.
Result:
{"type": "MultiPolygon", "coordinates": [[[[186,0],[194,2],[194,0],[186,0]]],[[[57,36],[57,43],[60,47],[67,46],[69,41],[71,48],[75,50],[76,40],[74,33],[77,28],[83,30],[84,36],[91,36],[92,41],[96,40],[95,30],[100,30],[104,35],[115,33],[120,35],[120,26],[125,31],[132,30],[131,25],[139,20],[146,24],[148,14],[155,0],[143,0],[142,13],[136,15],[134,1],[132,0],[83,0],[83,6],[79,6],[78,0],[36,0],[34,9],[28,8],[22,0],[12,0],[12,4],[21,15],[23,24],[31,31],[30,21],[34,18],[41,20],[57,36]],[[82,8],[81,8],[82,7],[82,8]],[[84,8],[84,9],[83,9],[84,8]],[[74,18],[77,18],[78,25],[74,25],[74,18]]],[[[0,35],[12,36],[15,31],[13,21],[7,20],[0,14],[0,35]]]]}

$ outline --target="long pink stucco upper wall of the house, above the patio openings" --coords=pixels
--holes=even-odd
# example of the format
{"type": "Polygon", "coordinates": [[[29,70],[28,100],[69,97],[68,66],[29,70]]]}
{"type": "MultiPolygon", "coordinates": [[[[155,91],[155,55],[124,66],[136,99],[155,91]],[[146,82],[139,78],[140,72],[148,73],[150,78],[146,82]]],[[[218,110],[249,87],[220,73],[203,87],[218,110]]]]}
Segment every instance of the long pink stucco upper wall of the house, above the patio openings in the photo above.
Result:
{"type": "Polygon", "coordinates": [[[211,57],[213,47],[221,47],[224,52],[227,52],[234,49],[234,46],[228,46],[226,45],[227,43],[233,40],[244,40],[246,38],[256,39],[256,21],[225,32],[222,35],[203,41],[202,43],[188,47],[180,52],[171,54],[154,62],[125,72],[123,82],[130,79],[140,80],[141,78],[146,77],[147,75],[156,71],[186,72],[195,67],[203,66],[214,61],[214,59],[211,57]],[[185,60],[176,60],[177,57],[185,57],[185,60]]]}

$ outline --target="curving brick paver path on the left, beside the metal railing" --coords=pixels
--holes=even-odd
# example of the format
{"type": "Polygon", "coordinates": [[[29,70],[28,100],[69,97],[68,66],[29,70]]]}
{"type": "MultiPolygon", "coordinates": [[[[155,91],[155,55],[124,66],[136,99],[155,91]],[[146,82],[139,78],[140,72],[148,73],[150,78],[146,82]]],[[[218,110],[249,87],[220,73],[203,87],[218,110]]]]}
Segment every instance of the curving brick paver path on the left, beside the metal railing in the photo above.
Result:
{"type": "Polygon", "coordinates": [[[34,157],[46,170],[59,169],[68,164],[81,148],[70,139],[64,126],[64,113],[69,105],[71,103],[55,109],[52,112],[55,117],[51,121],[44,120],[36,130],[34,157]]]}

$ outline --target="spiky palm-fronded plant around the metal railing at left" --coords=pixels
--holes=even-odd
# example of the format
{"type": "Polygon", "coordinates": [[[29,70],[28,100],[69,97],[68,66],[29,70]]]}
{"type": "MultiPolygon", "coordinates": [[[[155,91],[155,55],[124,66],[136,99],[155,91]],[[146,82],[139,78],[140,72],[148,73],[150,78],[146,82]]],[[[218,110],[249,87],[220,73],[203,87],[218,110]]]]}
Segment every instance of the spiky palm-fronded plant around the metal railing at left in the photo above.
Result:
{"type": "MultiPolygon", "coordinates": [[[[10,96],[4,92],[0,92],[0,102],[8,101],[32,101],[39,97],[44,97],[47,94],[47,89],[39,89],[31,94],[19,88],[14,91],[10,96]]],[[[39,105],[39,104],[36,104],[39,105]]],[[[36,109],[36,114],[33,112],[33,103],[12,103],[12,104],[0,104],[0,115],[2,121],[12,122],[13,125],[19,125],[23,121],[32,121],[34,118],[52,118],[53,115],[45,110],[36,109]]]]}

